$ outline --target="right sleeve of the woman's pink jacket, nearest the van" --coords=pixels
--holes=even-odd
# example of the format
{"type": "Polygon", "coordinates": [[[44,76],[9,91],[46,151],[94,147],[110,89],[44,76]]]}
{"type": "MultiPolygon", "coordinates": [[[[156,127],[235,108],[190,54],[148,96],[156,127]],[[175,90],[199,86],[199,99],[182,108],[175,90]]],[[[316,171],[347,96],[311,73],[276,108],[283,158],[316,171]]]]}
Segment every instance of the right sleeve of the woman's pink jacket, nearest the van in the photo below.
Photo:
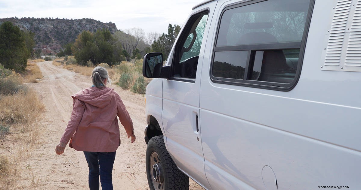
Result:
{"type": "Polygon", "coordinates": [[[117,98],[117,109],[118,109],[117,116],[119,117],[119,121],[124,126],[127,135],[128,136],[132,135],[134,134],[133,121],[130,118],[129,113],[126,110],[125,105],[123,104],[123,101],[118,94],[116,94],[116,98],[117,98]]]}

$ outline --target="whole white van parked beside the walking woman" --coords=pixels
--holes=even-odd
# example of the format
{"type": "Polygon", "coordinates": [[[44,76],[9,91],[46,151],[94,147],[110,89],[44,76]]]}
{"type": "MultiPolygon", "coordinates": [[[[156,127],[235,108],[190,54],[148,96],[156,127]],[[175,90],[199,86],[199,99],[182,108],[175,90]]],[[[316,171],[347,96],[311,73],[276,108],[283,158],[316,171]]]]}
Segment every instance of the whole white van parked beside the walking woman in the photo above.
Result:
{"type": "Polygon", "coordinates": [[[361,0],[208,0],[162,61],[150,189],[361,189],[361,0]]]}

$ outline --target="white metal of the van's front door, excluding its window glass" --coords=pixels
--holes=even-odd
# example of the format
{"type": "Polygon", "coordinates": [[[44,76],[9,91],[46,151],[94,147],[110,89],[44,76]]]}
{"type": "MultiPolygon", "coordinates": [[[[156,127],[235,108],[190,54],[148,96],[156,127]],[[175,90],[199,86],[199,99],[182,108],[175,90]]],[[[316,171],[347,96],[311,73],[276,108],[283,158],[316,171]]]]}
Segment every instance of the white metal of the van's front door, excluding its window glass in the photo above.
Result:
{"type": "MultiPolygon", "coordinates": [[[[194,9],[190,14],[198,14],[208,10],[208,20],[212,19],[216,3],[206,3],[194,9]]],[[[188,18],[188,19],[190,19],[188,18]]],[[[182,35],[184,28],[180,34],[182,35]]],[[[204,29],[199,58],[203,58],[204,48],[208,37],[209,23],[204,29]]],[[[175,42],[177,44],[177,42],[175,42]]],[[[173,46],[167,61],[172,63],[175,47],[173,46]]],[[[210,189],[204,172],[204,157],[201,143],[201,129],[197,128],[199,121],[199,92],[201,80],[202,59],[198,60],[195,79],[172,77],[163,81],[163,110],[162,121],[164,132],[167,134],[167,150],[172,159],[182,171],[194,177],[206,189],[210,189]],[[198,121],[197,121],[198,119],[198,121]],[[185,155],[187,155],[185,157],[185,155]],[[184,160],[186,159],[186,160],[184,160]]]]}

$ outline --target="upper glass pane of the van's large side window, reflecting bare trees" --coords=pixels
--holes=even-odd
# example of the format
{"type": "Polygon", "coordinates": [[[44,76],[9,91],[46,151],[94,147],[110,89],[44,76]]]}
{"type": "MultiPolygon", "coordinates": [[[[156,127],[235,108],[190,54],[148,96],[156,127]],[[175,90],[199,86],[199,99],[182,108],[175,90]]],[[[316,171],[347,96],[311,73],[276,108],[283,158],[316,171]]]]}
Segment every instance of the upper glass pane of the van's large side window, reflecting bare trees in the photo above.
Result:
{"type": "Polygon", "coordinates": [[[268,0],[227,10],[217,46],[301,41],[309,2],[268,0]]]}

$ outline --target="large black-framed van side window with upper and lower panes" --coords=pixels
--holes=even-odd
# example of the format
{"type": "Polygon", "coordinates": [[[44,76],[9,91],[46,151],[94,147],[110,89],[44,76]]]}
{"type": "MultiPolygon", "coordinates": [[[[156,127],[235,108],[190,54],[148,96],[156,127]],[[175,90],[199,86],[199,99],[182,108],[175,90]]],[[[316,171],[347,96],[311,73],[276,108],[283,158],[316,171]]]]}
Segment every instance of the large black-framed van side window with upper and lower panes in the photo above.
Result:
{"type": "Polygon", "coordinates": [[[214,47],[212,81],[289,89],[301,69],[309,6],[310,0],[266,0],[225,8],[214,47]]]}

